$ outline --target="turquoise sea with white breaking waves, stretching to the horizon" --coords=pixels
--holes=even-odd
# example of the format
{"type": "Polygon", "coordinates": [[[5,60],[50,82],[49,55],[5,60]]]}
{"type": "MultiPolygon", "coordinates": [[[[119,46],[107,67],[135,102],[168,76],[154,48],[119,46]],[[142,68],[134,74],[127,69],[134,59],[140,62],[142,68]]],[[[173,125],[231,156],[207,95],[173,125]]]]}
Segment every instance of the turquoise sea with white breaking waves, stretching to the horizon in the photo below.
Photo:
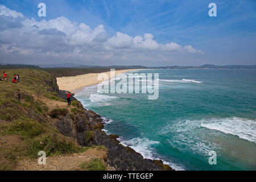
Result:
{"type": "Polygon", "coordinates": [[[76,94],[104,117],[107,134],[177,170],[256,169],[256,69],[133,73],[159,73],[158,100],[147,94],[99,94],[97,85],[76,94]],[[208,163],[209,151],[216,151],[216,165],[208,163]]]}

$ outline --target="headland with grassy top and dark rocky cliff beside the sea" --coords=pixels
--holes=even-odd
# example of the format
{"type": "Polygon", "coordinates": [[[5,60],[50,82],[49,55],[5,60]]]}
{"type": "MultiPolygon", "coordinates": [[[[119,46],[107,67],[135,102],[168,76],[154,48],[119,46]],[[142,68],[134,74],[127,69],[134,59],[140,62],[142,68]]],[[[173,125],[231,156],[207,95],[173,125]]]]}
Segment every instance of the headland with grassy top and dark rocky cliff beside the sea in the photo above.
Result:
{"type": "Polygon", "coordinates": [[[67,106],[64,91],[49,73],[39,69],[6,72],[19,73],[21,82],[0,81],[1,169],[14,169],[22,159],[35,160],[40,150],[54,158],[102,146],[100,150],[106,148],[107,156],[101,160],[108,169],[172,170],[160,160],[143,159],[122,146],[117,135],[106,135],[100,115],[84,109],[76,98],[72,97],[72,106],[67,106]]]}

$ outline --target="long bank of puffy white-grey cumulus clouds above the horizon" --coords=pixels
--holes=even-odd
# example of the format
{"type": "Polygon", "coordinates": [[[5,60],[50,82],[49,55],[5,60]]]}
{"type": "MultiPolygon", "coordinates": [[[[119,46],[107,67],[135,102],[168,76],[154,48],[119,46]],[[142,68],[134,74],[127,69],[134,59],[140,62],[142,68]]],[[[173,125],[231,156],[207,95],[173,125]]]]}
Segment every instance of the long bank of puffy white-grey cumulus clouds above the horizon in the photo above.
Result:
{"type": "Polygon", "coordinates": [[[204,53],[191,45],[159,44],[147,33],[133,37],[117,32],[111,37],[102,24],[91,28],[64,16],[37,21],[3,5],[0,5],[0,22],[2,61],[35,64],[109,61],[111,64],[112,60],[119,60],[123,64],[129,60],[168,60],[174,53],[204,53]]]}

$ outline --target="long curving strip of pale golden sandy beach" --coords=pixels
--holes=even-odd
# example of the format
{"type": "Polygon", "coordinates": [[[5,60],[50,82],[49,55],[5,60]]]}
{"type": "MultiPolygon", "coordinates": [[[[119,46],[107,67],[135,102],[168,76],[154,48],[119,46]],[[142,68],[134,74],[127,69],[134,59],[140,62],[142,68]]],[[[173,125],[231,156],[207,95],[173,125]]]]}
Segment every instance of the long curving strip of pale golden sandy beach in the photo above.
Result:
{"type": "MultiPolygon", "coordinates": [[[[130,71],[135,71],[140,69],[122,69],[115,70],[115,75],[120,73],[126,73],[130,71]]],[[[104,72],[108,74],[110,78],[110,71],[104,72]]],[[[76,93],[77,90],[83,86],[89,86],[100,83],[102,80],[97,80],[97,77],[100,73],[88,73],[84,75],[69,76],[69,77],[57,77],[57,84],[59,85],[60,90],[68,90],[70,92],[76,93]]]]}

